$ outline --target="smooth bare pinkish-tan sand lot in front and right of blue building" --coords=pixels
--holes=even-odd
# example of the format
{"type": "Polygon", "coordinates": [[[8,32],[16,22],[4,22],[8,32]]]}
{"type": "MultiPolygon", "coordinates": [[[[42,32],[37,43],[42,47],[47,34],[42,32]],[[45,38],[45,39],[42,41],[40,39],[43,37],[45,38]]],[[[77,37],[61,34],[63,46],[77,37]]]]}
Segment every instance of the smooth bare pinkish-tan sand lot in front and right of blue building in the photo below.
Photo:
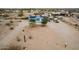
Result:
{"type": "Polygon", "coordinates": [[[48,23],[47,27],[29,29],[33,39],[28,41],[27,49],[79,49],[79,31],[60,22],[48,23]]]}

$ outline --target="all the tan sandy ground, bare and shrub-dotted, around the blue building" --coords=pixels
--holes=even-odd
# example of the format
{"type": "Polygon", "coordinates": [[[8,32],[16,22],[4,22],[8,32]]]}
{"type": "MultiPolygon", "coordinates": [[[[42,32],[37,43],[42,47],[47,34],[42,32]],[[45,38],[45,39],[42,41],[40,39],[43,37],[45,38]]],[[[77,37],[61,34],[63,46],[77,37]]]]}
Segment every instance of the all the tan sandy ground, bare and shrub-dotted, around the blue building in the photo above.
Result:
{"type": "Polygon", "coordinates": [[[45,27],[29,27],[27,20],[0,19],[0,49],[1,50],[78,50],[79,24],[73,17],[63,17],[63,20],[48,22],[45,27]],[[72,24],[71,24],[72,23],[72,24]]]}

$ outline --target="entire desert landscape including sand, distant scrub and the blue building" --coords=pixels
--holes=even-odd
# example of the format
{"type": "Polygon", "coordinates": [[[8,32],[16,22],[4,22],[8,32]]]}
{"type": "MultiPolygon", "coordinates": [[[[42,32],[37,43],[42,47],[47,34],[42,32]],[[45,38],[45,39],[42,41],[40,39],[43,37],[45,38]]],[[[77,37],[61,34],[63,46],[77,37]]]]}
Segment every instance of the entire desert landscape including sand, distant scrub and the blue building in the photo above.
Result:
{"type": "Polygon", "coordinates": [[[0,9],[0,50],[79,50],[79,9],[0,9]]]}

